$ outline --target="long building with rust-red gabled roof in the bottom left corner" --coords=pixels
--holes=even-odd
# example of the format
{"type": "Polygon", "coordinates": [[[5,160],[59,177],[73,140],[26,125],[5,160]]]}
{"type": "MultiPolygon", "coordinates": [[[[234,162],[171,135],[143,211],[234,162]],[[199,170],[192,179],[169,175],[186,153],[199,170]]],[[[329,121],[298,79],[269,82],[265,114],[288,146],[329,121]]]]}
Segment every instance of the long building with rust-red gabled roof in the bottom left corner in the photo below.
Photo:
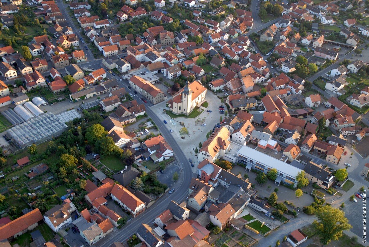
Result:
{"type": "Polygon", "coordinates": [[[37,208],[18,217],[15,220],[1,224],[0,231],[2,234],[0,240],[13,240],[27,231],[35,229],[39,223],[42,223],[42,220],[43,217],[41,212],[37,208]]]}

